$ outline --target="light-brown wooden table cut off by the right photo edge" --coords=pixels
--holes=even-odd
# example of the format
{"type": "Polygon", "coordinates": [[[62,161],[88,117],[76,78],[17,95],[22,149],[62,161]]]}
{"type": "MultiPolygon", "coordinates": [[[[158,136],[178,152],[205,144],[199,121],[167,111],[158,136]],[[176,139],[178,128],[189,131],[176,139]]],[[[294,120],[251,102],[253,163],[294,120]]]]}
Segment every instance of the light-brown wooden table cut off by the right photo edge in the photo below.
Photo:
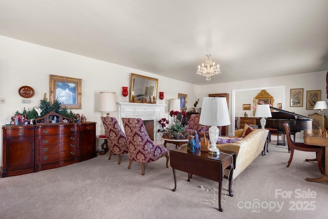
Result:
{"type": "Polygon", "coordinates": [[[319,137],[319,130],[304,130],[304,144],[306,145],[317,145],[326,147],[324,153],[324,175],[320,178],[308,178],[306,181],[309,182],[327,182],[328,181],[328,138],[319,137]]]}

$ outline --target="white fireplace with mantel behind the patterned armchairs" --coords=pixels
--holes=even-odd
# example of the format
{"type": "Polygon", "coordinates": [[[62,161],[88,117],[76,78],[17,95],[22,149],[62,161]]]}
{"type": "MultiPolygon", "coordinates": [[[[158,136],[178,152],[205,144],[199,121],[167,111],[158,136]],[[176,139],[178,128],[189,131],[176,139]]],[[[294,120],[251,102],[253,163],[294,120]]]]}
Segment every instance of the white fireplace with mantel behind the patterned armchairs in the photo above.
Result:
{"type": "MultiPolygon", "coordinates": [[[[164,111],[166,106],[167,105],[164,104],[139,104],[119,102],[118,122],[122,130],[124,130],[121,118],[141,118],[141,120],[144,121],[144,124],[145,122],[147,124],[149,123],[149,121],[152,121],[152,128],[149,128],[151,126],[147,125],[148,127],[146,127],[146,129],[148,133],[151,132],[151,130],[149,129],[153,129],[152,140],[158,140],[159,134],[157,132],[157,129],[159,129],[160,127],[157,121],[160,120],[160,118],[164,117],[164,111]]],[[[149,134],[149,136],[151,137],[151,134],[149,134]]]]}

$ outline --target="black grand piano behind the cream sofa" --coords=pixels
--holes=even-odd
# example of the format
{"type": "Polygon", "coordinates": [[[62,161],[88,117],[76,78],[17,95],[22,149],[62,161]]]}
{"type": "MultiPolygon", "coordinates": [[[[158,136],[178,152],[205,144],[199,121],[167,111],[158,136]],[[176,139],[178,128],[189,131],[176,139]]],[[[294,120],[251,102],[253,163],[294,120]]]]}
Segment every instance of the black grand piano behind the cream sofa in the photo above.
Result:
{"type": "Polygon", "coordinates": [[[265,128],[277,129],[278,136],[279,134],[282,134],[282,142],[279,142],[278,137],[277,145],[285,146],[285,128],[283,126],[284,123],[288,123],[291,129],[291,134],[295,134],[301,130],[312,129],[312,118],[274,107],[270,108],[273,109],[274,112],[271,112],[271,118],[267,118],[265,128]]]}

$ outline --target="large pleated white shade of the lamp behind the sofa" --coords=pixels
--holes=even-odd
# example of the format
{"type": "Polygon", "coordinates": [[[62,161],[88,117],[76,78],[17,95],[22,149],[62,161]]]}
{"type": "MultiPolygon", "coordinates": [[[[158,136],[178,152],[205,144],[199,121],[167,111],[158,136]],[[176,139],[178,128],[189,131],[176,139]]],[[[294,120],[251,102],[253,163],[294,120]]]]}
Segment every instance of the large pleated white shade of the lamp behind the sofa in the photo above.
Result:
{"type": "Polygon", "coordinates": [[[228,126],[230,123],[226,97],[203,98],[199,124],[204,126],[228,126]]]}

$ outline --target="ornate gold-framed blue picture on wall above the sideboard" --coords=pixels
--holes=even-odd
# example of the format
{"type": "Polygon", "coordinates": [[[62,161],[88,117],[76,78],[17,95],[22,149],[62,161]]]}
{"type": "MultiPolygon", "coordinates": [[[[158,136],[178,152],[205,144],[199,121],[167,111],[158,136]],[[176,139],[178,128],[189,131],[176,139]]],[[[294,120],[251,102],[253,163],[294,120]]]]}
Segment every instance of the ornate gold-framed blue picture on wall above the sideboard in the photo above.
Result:
{"type": "Polygon", "coordinates": [[[49,102],[53,104],[56,99],[61,106],[67,109],[82,109],[82,79],[49,75],[49,102]]]}

